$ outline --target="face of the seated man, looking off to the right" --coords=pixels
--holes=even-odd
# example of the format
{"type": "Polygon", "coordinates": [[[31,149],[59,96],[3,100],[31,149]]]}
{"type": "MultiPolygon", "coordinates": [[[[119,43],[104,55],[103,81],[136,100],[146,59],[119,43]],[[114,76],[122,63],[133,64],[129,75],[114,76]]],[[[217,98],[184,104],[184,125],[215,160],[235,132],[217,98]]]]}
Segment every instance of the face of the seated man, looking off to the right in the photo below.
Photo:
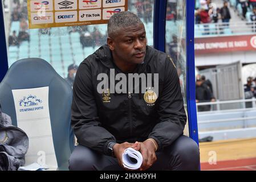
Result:
{"type": "Polygon", "coordinates": [[[144,24],[121,28],[115,37],[108,38],[108,46],[118,61],[141,64],[146,54],[146,32],[144,24]]]}

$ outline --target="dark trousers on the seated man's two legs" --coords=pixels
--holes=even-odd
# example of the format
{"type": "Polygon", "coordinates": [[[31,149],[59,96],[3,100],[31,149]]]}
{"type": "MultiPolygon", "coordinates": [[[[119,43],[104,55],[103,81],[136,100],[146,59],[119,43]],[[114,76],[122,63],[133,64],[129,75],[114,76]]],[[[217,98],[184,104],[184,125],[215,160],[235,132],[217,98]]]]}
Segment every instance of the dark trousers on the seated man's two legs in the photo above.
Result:
{"type": "MultiPolygon", "coordinates": [[[[197,143],[182,135],[164,150],[156,152],[157,160],[148,170],[198,170],[200,155],[197,143]]],[[[116,158],[100,154],[82,145],[70,157],[72,171],[121,171],[116,158]]]]}

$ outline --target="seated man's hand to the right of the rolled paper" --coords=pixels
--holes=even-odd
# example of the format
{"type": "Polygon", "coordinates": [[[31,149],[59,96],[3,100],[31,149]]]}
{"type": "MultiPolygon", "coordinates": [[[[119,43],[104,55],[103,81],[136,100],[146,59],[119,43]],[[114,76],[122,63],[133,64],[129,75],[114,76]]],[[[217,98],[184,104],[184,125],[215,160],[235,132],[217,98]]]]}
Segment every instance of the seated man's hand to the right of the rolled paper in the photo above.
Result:
{"type": "Polygon", "coordinates": [[[156,162],[156,147],[158,146],[154,139],[148,139],[140,143],[139,151],[143,156],[143,163],[141,164],[140,171],[147,170],[156,162]]]}

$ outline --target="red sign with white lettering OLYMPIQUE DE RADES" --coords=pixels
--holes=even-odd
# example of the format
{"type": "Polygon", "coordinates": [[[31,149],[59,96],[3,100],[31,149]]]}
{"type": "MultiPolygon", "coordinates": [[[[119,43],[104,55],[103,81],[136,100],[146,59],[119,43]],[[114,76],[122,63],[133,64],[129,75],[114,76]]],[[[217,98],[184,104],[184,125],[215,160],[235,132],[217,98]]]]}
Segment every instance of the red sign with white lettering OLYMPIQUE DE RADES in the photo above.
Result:
{"type": "Polygon", "coordinates": [[[233,51],[256,51],[256,35],[196,38],[194,40],[194,51],[196,55],[233,51]]]}

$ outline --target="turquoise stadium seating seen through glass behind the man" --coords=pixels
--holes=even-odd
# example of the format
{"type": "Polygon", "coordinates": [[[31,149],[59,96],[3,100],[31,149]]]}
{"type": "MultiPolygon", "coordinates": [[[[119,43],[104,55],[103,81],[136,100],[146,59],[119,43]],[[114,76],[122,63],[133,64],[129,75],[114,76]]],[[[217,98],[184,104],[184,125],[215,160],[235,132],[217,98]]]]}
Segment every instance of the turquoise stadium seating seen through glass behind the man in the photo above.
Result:
{"type": "MultiPolygon", "coordinates": [[[[174,31],[178,28],[174,26],[173,22],[169,26],[172,26],[174,31]]],[[[93,32],[94,27],[97,27],[97,30],[102,35],[106,35],[107,24],[87,27],[90,32],[93,32]]],[[[153,46],[153,22],[145,24],[145,29],[147,31],[148,45],[153,46]]],[[[19,22],[11,22],[10,30],[10,35],[13,30],[17,31],[18,34],[19,22]]],[[[39,57],[50,63],[60,76],[66,77],[68,65],[74,63],[79,65],[87,56],[99,48],[99,46],[96,46],[84,47],[83,49],[80,43],[80,33],[72,32],[71,27],[50,28],[50,34],[42,34],[38,28],[29,29],[27,32],[30,35],[30,42],[22,42],[19,47],[9,47],[9,66],[19,59],[39,57]]]]}

